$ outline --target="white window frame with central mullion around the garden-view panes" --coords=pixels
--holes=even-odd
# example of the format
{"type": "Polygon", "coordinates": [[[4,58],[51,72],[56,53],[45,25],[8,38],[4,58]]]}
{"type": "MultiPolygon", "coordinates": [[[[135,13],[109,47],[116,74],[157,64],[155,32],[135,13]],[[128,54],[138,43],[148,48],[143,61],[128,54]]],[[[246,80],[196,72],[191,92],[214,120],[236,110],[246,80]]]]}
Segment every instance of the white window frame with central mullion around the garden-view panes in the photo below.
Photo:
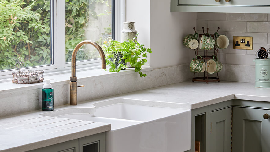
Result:
{"type": "MultiPolygon", "coordinates": [[[[122,29],[123,21],[125,21],[125,1],[126,0],[114,0],[115,16],[114,16],[114,32],[115,39],[120,40],[120,32],[122,29]],[[119,26],[118,26],[119,25],[119,26]]],[[[53,65],[40,65],[35,67],[23,68],[23,70],[44,70],[44,76],[67,73],[71,71],[71,63],[65,62],[65,0],[52,0],[54,4],[51,6],[53,10],[53,65]],[[63,38],[64,37],[64,38],[63,38]],[[63,49],[64,48],[64,49],[63,49]],[[64,50],[64,51],[63,51],[64,50]]],[[[83,71],[89,69],[97,69],[101,67],[101,59],[93,59],[87,61],[76,62],[76,71],[83,71]]],[[[10,81],[12,72],[18,69],[9,69],[0,71],[0,82],[10,81]]]]}

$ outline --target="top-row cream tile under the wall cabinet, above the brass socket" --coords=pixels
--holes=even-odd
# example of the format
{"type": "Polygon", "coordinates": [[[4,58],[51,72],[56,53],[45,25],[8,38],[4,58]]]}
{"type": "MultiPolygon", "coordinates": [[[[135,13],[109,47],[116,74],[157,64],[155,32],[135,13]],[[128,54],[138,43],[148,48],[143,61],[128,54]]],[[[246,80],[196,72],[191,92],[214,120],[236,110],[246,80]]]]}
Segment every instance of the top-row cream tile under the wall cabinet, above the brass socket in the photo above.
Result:
{"type": "Polygon", "coordinates": [[[228,21],[267,21],[267,14],[227,13],[228,21]]]}

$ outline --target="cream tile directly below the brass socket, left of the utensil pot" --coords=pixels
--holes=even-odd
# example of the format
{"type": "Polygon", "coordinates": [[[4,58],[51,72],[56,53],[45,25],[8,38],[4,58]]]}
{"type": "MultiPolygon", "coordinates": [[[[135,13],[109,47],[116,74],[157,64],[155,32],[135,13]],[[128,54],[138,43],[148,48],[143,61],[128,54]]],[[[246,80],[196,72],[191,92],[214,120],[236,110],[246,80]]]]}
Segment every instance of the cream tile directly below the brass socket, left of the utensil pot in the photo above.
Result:
{"type": "Polygon", "coordinates": [[[227,64],[255,65],[255,55],[227,54],[227,64]]]}

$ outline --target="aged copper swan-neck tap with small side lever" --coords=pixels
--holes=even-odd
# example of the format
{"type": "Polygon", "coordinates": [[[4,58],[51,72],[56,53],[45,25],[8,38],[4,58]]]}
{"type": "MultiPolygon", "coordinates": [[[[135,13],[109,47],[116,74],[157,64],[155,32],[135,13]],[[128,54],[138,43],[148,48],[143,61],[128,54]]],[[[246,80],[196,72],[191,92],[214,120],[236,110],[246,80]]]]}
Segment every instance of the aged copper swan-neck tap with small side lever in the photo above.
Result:
{"type": "Polygon", "coordinates": [[[71,77],[69,82],[69,89],[70,89],[70,105],[77,105],[77,87],[84,87],[83,86],[77,86],[77,77],[75,75],[76,72],[76,54],[78,50],[84,45],[84,44],[91,44],[96,49],[98,49],[98,52],[101,56],[101,69],[106,69],[106,59],[104,52],[102,48],[94,41],[91,40],[85,40],[81,41],[73,50],[72,58],[71,58],[71,77]]]}

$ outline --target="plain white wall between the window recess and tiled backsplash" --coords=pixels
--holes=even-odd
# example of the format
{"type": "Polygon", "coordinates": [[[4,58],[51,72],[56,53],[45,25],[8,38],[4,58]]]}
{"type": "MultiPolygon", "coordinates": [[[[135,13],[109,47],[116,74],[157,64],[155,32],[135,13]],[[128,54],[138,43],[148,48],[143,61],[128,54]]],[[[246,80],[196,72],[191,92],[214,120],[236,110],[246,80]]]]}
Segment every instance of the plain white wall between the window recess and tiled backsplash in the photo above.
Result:
{"type": "Polygon", "coordinates": [[[194,50],[183,46],[183,37],[194,34],[196,13],[170,12],[170,0],[150,0],[150,66],[190,63],[194,50]]]}

